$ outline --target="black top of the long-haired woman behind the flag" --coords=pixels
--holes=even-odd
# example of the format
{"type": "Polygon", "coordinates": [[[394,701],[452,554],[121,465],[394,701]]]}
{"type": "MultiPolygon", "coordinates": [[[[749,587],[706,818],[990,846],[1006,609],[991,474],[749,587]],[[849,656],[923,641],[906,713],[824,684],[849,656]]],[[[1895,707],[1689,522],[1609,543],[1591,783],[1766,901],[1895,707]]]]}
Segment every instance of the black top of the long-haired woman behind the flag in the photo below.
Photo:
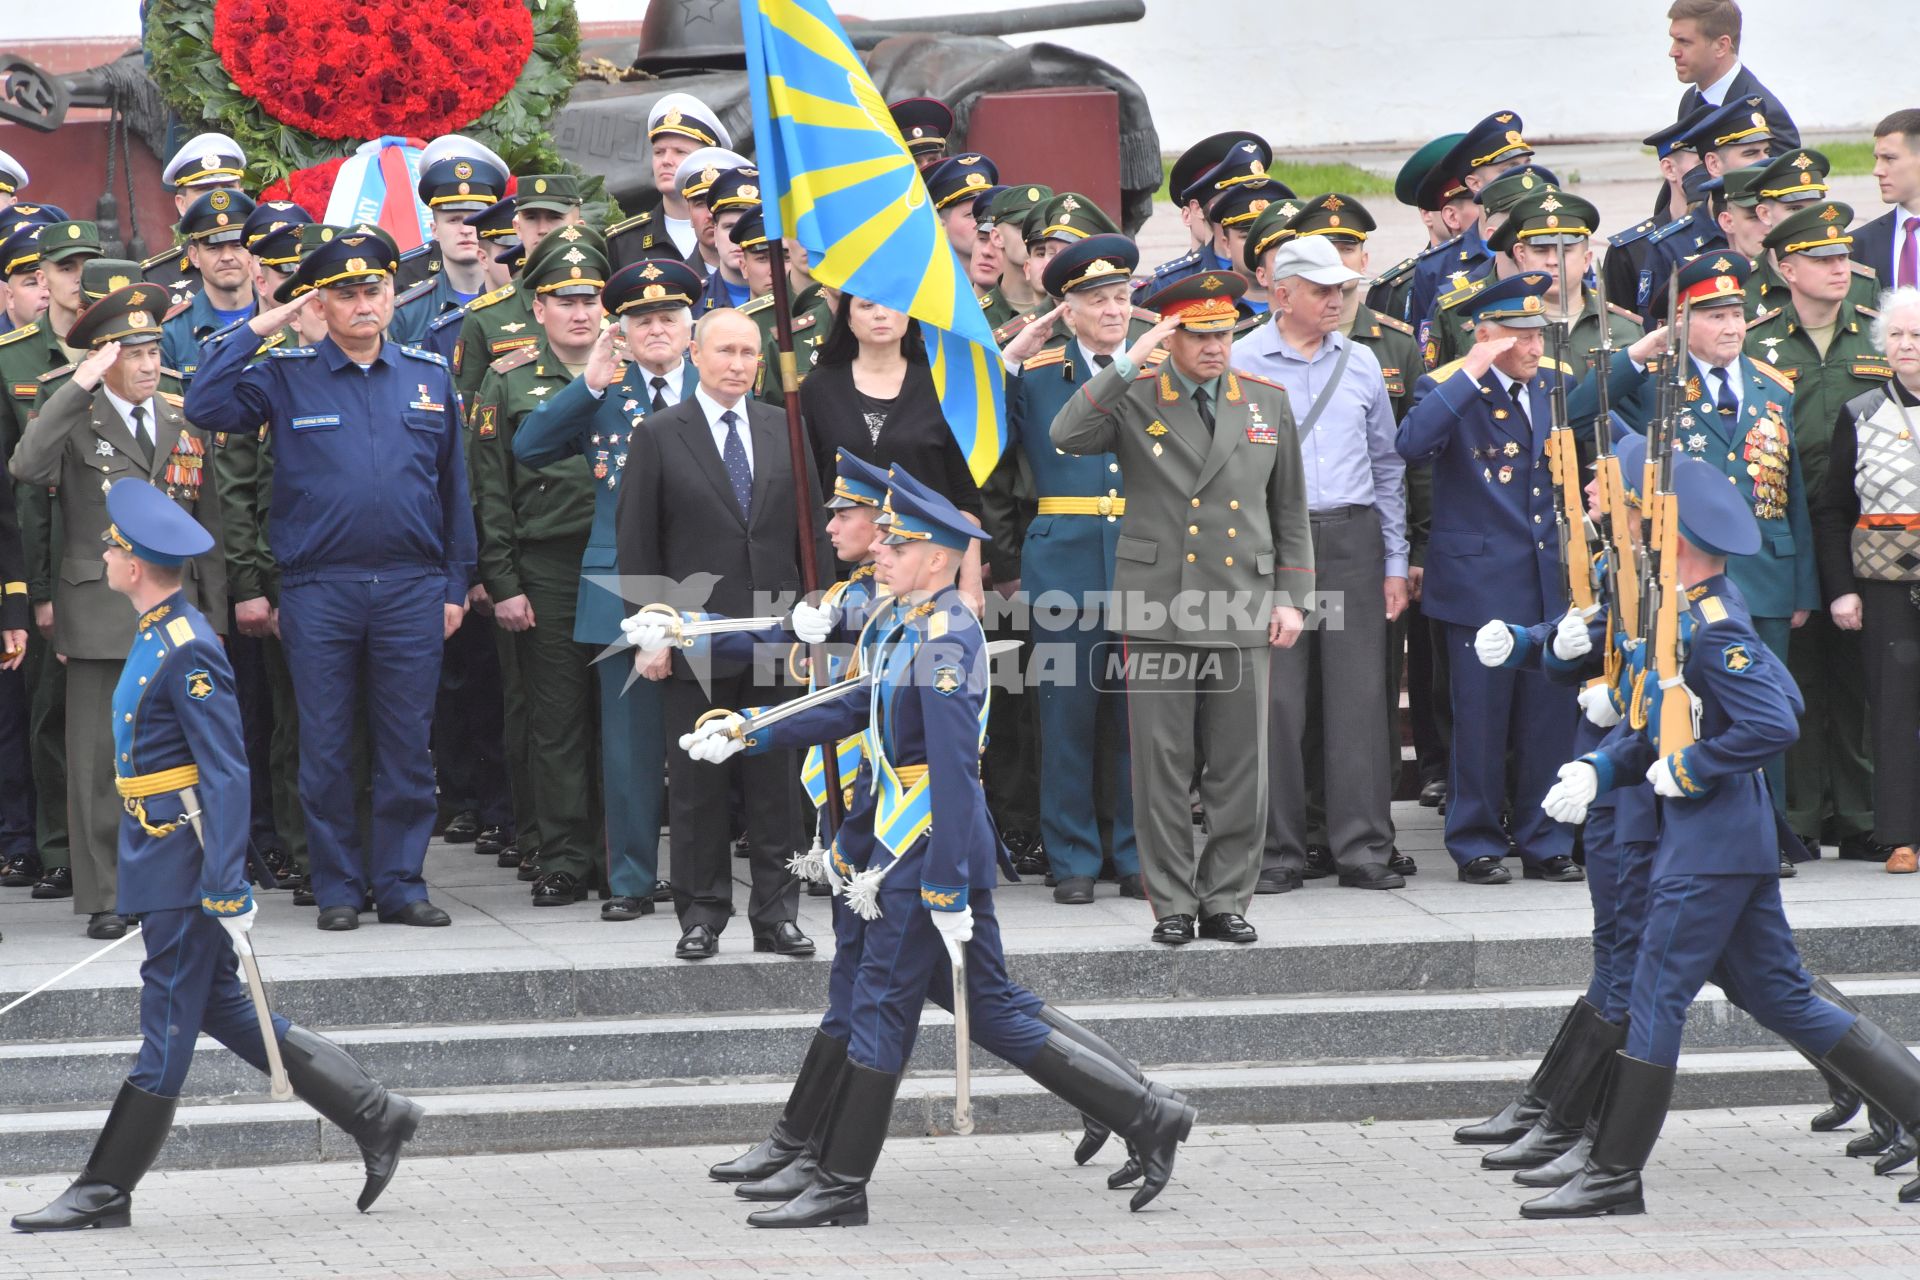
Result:
{"type": "Polygon", "coordinates": [[[822,365],[801,384],[801,413],[814,441],[820,489],[833,491],[833,455],[839,449],[885,470],[902,466],[948,503],[979,516],[979,486],[954,439],[933,372],[910,361],[900,393],[893,399],[864,395],[852,382],[852,365],[822,365]]]}

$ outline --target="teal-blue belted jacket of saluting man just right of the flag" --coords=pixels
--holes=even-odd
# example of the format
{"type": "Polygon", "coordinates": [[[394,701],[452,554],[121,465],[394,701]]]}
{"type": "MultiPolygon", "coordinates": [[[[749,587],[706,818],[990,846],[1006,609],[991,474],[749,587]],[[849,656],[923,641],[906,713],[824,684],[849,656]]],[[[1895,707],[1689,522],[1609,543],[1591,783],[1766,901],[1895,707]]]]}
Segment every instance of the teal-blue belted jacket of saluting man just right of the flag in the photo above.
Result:
{"type": "MultiPolygon", "coordinates": [[[[1077,342],[1029,359],[1006,388],[1008,439],[1027,455],[1033,491],[1048,497],[1119,499],[1125,486],[1112,453],[1062,453],[1054,447],[1054,416],[1087,386],[1094,370],[1077,342]]],[[[1119,514],[1039,514],[1020,547],[1020,580],[1027,599],[1066,591],[1085,608],[1089,591],[1114,583],[1114,543],[1125,528],[1119,514]]]]}

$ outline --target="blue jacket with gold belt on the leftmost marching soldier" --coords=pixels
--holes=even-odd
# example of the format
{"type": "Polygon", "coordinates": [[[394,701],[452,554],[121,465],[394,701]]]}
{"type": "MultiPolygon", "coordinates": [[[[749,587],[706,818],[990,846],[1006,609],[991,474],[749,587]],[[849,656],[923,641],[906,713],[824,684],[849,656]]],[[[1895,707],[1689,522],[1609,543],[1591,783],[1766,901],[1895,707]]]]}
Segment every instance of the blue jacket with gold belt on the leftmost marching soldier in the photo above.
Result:
{"type": "Polygon", "coordinates": [[[186,766],[200,771],[198,781],[175,777],[161,783],[163,791],[129,800],[144,810],[144,823],[134,814],[121,818],[117,910],[123,915],[192,906],[234,915],[250,896],[252,800],[234,672],[221,637],[175,591],[140,614],[113,687],[113,770],[121,779],[138,779],[186,766]],[[182,785],[192,785],[200,800],[205,846],[184,821],[182,785]],[[169,825],[165,835],[148,831],[169,825]]]}

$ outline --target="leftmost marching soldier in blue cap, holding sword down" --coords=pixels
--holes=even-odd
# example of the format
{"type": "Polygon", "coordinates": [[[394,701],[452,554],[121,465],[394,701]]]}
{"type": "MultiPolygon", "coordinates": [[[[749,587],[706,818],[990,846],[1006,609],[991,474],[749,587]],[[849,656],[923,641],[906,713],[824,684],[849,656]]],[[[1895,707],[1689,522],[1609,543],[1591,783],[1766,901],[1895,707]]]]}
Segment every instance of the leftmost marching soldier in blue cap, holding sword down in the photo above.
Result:
{"type": "MultiPolygon", "coordinates": [[[[159,286],[134,288],[165,297],[159,286]]],[[[146,942],[142,1044],[86,1169],[54,1203],[15,1217],[17,1232],[132,1224],[132,1192],[167,1142],[202,1031],[255,1071],[269,1071],[271,1061],[236,958],[259,915],[246,871],[240,704],[225,645],[184,589],[188,568],[213,551],[213,533],[138,476],[115,480],[98,505],[108,516],[96,537],[108,543],[106,583],[132,604],[132,645],[115,664],[111,720],[113,781],[123,796],[115,802],[117,906],[140,917],[146,942]]],[[[365,1213],[392,1182],[426,1111],[332,1040],[278,1015],[271,1021],[294,1096],[361,1148],[365,1213]]]]}

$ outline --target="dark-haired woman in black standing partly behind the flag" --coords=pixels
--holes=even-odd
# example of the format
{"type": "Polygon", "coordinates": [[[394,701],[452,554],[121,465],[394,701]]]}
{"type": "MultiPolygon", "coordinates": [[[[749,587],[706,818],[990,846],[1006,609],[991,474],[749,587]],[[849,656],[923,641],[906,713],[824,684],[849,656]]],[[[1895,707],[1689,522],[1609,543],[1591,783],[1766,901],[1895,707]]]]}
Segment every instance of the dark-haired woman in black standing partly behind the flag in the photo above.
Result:
{"type": "MultiPolygon", "coordinates": [[[[841,294],[820,361],[801,384],[814,468],[833,491],[835,451],[900,466],[979,524],[979,486],[933,390],[920,322],[904,311],[841,294]]],[[[966,553],[960,593],[981,606],[979,543],[966,553]]]]}

